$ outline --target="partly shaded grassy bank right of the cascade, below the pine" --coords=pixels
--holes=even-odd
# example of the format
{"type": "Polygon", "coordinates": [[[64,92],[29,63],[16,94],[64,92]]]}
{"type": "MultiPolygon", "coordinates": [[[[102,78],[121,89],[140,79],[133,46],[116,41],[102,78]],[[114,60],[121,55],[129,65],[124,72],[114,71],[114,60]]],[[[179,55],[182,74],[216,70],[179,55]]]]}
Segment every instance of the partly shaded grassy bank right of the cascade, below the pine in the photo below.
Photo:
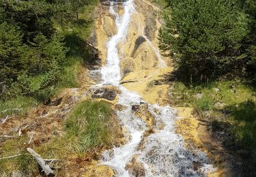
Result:
{"type": "Polygon", "coordinates": [[[255,88],[241,80],[200,86],[175,82],[171,92],[173,103],[193,107],[199,118],[210,122],[212,135],[227,148],[256,162],[255,88]]]}

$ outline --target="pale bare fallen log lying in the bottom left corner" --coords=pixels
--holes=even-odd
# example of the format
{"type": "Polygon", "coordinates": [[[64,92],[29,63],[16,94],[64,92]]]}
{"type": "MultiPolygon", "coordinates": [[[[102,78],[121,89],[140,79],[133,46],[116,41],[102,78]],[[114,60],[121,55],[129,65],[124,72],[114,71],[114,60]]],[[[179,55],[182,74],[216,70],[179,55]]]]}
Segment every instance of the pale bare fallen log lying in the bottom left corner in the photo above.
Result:
{"type": "Polygon", "coordinates": [[[46,164],[46,161],[44,161],[44,159],[42,159],[42,157],[40,157],[38,153],[36,153],[31,148],[27,148],[27,151],[33,156],[35,161],[38,162],[38,165],[41,167],[42,171],[46,176],[55,176],[55,174],[53,173],[53,170],[51,170],[51,167],[46,164]]]}

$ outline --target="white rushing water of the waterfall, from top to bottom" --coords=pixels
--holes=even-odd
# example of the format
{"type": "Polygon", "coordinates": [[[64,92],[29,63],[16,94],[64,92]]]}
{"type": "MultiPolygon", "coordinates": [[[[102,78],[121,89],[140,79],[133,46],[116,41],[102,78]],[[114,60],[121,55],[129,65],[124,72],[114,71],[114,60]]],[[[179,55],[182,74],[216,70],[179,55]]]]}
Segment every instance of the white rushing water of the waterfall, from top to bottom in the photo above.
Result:
{"type": "MultiPolygon", "coordinates": [[[[134,155],[137,155],[137,161],[143,164],[145,168],[145,176],[203,176],[212,170],[212,165],[207,163],[203,152],[192,153],[186,150],[184,140],[175,133],[177,112],[169,106],[161,107],[156,104],[149,104],[149,111],[156,120],[155,133],[146,138],[142,148],[138,148],[143,139],[146,125],[132,112],[132,105],[139,104],[143,100],[137,93],[132,93],[124,86],[119,85],[121,75],[117,49],[117,45],[126,39],[130,16],[135,12],[133,0],[124,2],[124,14],[122,16],[118,15],[117,7],[113,2],[111,2],[109,12],[115,17],[118,31],[109,39],[107,44],[106,65],[101,69],[103,82],[99,86],[111,84],[118,86],[121,91],[118,96],[118,103],[126,108],[117,111],[117,115],[127,143],[103,152],[100,164],[108,165],[115,170],[115,176],[132,176],[126,170],[126,164],[131,161],[134,155]],[[160,125],[165,127],[161,129],[160,125]],[[193,161],[201,163],[201,172],[193,170],[193,161]]],[[[151,45],[156,50],[152,43],[151,45]]],[[[155,52],[160,55],[159,51],[155,52]]]]}

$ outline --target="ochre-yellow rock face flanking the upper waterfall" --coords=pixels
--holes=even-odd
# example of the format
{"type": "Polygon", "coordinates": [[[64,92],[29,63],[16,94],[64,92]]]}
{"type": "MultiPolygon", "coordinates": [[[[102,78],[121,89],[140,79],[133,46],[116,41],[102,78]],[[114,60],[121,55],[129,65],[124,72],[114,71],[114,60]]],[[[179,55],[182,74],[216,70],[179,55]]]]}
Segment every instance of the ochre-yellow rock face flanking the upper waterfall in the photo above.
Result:
{"type": "MultiPolygon", "coordinates": [[[[97,48],[100,50],[102,65],[106,63],[106,45],[109,37],[117,33],[115,16],[109,13],[109,1],[102,1],[96,20],[97,48]],[[107,3],[106,3],[107,2],[107,3]]],[[[171,59],[160,57],[167,67],[159,67],[158,29],[161,27],[160,10],[149,1],[134,0],[136,13],[131,16],[126,39],[117,46],[120,57],[122,81],[137,80],[123,84],[128,90],[136,91],[150,103],[165,104],[169,84],[160,83],[150,86],[153,80],[162,80],[173,70],[171,59]]],[[[118,5],[119,15],[124,13],[118,5]]]]}

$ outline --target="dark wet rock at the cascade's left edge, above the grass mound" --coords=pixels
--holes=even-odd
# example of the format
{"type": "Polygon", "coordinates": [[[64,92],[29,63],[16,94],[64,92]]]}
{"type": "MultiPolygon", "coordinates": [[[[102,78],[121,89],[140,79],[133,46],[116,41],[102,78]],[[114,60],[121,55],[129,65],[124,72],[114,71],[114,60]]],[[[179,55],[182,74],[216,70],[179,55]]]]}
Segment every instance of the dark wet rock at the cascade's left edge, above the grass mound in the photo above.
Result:
{"type": "Polygon", "coordinates": [[[113,101],[115,97],[117,97],[117,92],[111,88],[98,88],[94,91],[93,95],[91,95],[91,98],[104,98],[109,101],[113,101]]]}

